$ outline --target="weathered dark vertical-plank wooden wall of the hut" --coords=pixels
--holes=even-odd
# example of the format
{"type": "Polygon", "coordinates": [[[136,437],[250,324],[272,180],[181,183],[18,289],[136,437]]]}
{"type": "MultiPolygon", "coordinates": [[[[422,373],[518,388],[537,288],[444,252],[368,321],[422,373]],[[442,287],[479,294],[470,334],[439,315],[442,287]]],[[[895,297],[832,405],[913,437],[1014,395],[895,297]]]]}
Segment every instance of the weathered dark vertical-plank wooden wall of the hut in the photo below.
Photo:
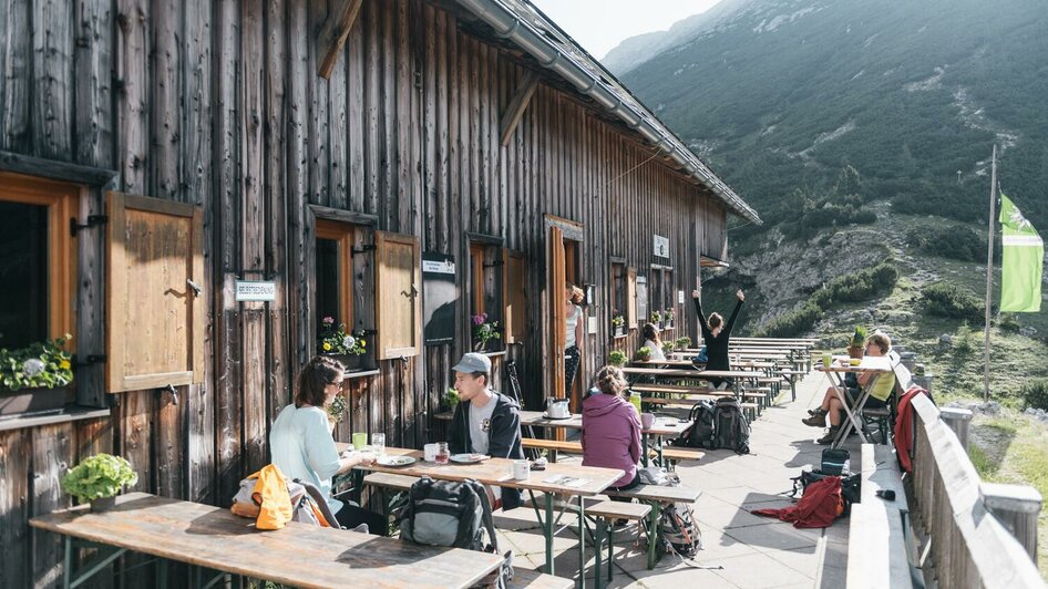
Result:
{"type": "MultiPolygon", "coordinates": [[[[315,350],[309,205],[373,215],[373,229],[420,236],[424,251],[459,262],[458,342],[379,362],[377,375],[347,385],[351,413],[338,435],[381,431],[390,444],[442,435],[428,416],[470,345],[466,231],[502,237],[524,256],[526,337],[494,359],[494,383],[506,390],[505,362],[516,361],[532,406],[545,396],[546,215],[582,224],[578,273],[597,286],[583,379],[612,348],[609,256],[641,276],[651,264],[672,266],[686,292],[700,254],[723,257],[720,203],[455,14],[422,0],[370,0],[325,80],[314,40],[328,9],[327,0],[0,6],[0,148],[119,169],[114,189],[201,206],[210,310],[203,383],[176,395],[120,394],[107,420],[0,432],[0,585],[60,578],[54,538],[33,536],[25,521],[68,505],[58,478],[92,452],[127,457],[137,490],[218,504],[267,461],[271,420],[315,350]],[[503,146],[501,116],[528,71],[543,82],[503,146]],[[655,232],[670,239],[669,260],[653,256],[655,232]],[[238,278],[275,280],[277,300],[236,302],[238,278]]],[[[81,211],[103,208],[95,190],[81,211]]],[[[80,251],[79,344],[97,353],[102,245],[88,234],[80,251]]],[[[355,260],[359,291],[370,288],[372,257],[355,260]]],[[[689,306],[681,311],[678,332],[693,331],[689,306]]],[[[357,328],[374,327],[373,317],[358,319],[357,328]]],[[[620,345],[638,343],[634,331],[620,345]]],[[[78,378],[101,383],[101,366],[78,378]]]]}

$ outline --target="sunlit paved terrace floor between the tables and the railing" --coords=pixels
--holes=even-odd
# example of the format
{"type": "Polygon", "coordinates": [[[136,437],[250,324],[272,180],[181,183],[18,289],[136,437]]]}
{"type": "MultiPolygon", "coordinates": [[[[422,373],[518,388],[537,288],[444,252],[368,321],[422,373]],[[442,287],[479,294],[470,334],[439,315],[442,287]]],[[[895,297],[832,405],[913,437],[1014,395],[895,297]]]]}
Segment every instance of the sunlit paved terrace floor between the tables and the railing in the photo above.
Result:
{"type": "MultiPolygon", "coordinates": [[[[828,384],[821,373],[809,374],[798,386],[795,402],[790,401],[787,390],[779,405],[766,410],[752,424],[751,454],[710,451],[701,462],[679,464],[681,484],[702,490],[693,509],[705,549],[691,562],[665,555],[655,569],[648,570],[643,547],[636,546],[637,527],[633,525],[615,534],[616,568],[609,587],[843,587],[847,519],[838,519],[826,529],[795,529],[791,524],[749,513],[790,505],[790,478],[819,464],[825,446],[816,445],[814,440],[823,431],[803,425],[801,418],[822,399],[828,384]]],[[[849,438],[845,447],[851,452],[852,469],[859,469],[857,436],[849,438]]],[[[545,558],[544,544],[534,512],[522,507],[495,515],[500,547],[514,551],[517,566],[540,568],[545,558]]],[[[571,520],[568,514],[562,523],[571,520]]],[[[577,579],[576,545],[574,529],[556,537],[557,576],[577,579]]],[[[593,547],[588,540],[587,556],[586,583],[592,587],[593,547]]]]}

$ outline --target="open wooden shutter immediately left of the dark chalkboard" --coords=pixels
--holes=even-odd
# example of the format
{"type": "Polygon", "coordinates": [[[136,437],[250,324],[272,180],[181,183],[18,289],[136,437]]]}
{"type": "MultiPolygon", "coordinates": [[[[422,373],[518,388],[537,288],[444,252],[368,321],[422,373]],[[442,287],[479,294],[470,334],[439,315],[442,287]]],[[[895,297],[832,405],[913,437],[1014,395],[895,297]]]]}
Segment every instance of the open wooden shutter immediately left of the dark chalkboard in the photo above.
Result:
{"type": "Polygon", "coordinates": [[[415,356],[421,350],[422,276],[419,239],[374,232],[376,353],[379,360],[415,356]]]}

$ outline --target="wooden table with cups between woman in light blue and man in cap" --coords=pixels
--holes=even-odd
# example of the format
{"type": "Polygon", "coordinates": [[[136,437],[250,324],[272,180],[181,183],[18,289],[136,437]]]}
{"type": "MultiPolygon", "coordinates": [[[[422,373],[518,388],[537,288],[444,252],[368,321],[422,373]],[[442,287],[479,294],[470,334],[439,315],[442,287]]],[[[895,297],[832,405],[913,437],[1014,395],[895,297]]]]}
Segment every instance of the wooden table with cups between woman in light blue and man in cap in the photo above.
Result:
{"type": "MultiPolygon", "coordinates": [[[[339,451],[348,450],[348,444],[336,443],[339,451]]],[[[542,492],[545,497],[546,517],[540,516],[543,534],[546,537],[546,572],[554,575],[553,559],[553,536],[556,534],[556,521],[553,519],[554,495],[564,495],[568,497],[592,497],[599,495],[604,489],[612,486],[613,483],[623,477],[625,472],[618,468],[600,468],[596,466],[582,466],[578,464],[549,463],[545,471],[535,471],[526,479],[517,480],[513,478],[513,462],[508,458],[491,457],[475,464],[436,464],[422,461],[422,452],[407,448],[386,448],[390,455],[411,456],[415,462],[405,466],[383,466],[374,463],[369,466],[358,466],[357,471],[374,471],[379,473],[392,473],[407,476],[429,476],[442,480],[465,480],[468,478],[492,485],[496,487],[518,488],[532,494],[542,492]],[[561,477],[571,477],[574,483],[557,482],[561,477]]],[[[578,508],[578,562],[579,567],[586,565],[586,534],[585,508],[579,500],[578,508]]],[[[535,509],[538,515],[538,509],[535,509]]],[[[585,587],[585,581],[580,580],[580,587],[585,587]]]]}

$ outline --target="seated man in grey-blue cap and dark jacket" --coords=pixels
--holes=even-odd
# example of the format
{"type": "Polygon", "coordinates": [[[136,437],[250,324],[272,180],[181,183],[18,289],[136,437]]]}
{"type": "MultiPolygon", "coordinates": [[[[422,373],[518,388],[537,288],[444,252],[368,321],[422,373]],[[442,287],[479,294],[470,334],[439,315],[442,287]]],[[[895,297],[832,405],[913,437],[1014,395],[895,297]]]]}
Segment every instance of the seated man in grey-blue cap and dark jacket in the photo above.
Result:
{"type": "MultiPolygon", "coordinates": [[[[491,360],[484,354],[468,353],[451,370],[455,371],[455,391],[460,403],[451,418],[448,448],[453,454],[486,454],[492,457],[520,459],[521,407],[508,396],[491,389],[491,360]]],[[[492,489],[499,499],[500,489],[492,489]]],[[[521,505],[517,489],[501,489],[502,508],[521,505]]],[[[497,507],[497,500],[496,505],[497,507]]]]}

